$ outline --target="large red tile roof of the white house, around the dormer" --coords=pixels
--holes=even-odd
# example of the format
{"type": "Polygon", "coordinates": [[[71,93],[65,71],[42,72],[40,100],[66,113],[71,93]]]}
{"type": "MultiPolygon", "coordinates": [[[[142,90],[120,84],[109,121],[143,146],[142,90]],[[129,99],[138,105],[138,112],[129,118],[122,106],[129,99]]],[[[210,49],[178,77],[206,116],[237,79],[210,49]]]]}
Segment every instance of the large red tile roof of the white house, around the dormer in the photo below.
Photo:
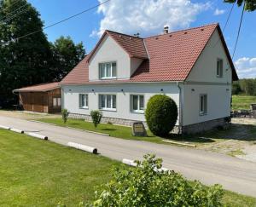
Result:
{"type": "MultiPolygon", "coordinates": [[[[230,60],[233,79],[236,80],[238,79],[236,70],[218,24],[195,27],[144,39],[131,37],[118,32],[106,31],[102,35],[99,43],[97,43],[96,48],[105,35],[108,34],[131,57],[143,59],[143,63],[137,68],[137,71],[134,72],[130,80],[113,80],[108,81],[108,83],[184,81],[189,76],[189,72],[216,29],[219,32],[224,49],[230,60]]],[[[88,78],[88,61],[96,51],[96,48],[61,81],[61,84],[102,83],[102,81],[91,83],[88,78]]],[[[107,82],[103,81],[103,83],[107,82]]]]}

